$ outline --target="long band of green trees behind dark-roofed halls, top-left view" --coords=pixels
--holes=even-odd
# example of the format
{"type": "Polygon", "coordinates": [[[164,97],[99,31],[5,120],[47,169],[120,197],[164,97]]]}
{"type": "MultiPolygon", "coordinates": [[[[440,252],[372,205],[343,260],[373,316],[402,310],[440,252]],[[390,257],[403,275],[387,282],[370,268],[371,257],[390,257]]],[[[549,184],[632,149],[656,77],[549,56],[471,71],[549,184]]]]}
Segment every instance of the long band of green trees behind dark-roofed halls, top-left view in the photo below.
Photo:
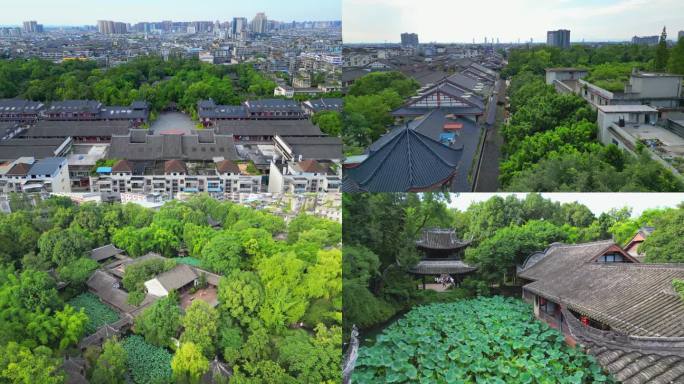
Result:
{"type": "Polygon", "coordinates": [[[175,102],[193,115],[200,99],[239,104],[248,97],[270,97],[275,88],[275,83],[251,64],[220,66],[161,57],[140,57],[106,70],[94,62],[3,60],[0,84],[0,98],[94,99],[106,105],[145,100],[153,114],[175,102]],[[232,76],[237,80],[231,80],[232,76]]]}

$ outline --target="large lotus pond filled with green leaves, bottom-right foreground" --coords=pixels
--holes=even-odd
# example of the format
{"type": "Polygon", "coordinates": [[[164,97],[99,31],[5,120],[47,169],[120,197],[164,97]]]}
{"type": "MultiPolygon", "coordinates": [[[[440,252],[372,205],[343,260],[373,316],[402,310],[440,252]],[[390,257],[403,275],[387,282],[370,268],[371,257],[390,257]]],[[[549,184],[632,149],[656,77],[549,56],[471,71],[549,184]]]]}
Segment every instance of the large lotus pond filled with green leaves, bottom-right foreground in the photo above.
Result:
{"type": "Polygon", "coordinates": [[[412,309],[362,346],[355,383],[612,383],[521,300],[495,296],[412,309]]]}

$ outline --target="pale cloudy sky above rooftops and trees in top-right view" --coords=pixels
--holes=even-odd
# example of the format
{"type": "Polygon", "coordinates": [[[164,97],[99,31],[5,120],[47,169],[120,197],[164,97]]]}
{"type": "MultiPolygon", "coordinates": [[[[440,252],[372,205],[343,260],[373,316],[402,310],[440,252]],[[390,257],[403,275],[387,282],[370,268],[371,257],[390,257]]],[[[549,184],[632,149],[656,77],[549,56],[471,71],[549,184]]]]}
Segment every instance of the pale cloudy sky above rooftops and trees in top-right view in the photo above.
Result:
{"type": "Polygon", "coordinates": [[[682,0],[341,0],[345,43],[546,41],[546,31],[570,29],[571,41],[629,40],[684,30],[682,0]]]}

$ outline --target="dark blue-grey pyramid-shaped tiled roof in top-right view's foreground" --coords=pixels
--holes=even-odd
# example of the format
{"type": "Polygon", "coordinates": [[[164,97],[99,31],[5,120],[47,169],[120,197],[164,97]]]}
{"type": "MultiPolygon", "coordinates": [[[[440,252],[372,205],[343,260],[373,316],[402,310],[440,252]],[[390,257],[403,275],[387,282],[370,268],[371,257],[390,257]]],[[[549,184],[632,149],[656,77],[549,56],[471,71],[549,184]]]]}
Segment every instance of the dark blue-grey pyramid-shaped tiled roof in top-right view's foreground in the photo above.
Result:
{"type": "Polygon", "coordinates": [[[408,127],[397,128],[355,168],[346,169],[360,189],[407,192],[434,189],[455,175],[462,150],[447,147],[408,127]]]}

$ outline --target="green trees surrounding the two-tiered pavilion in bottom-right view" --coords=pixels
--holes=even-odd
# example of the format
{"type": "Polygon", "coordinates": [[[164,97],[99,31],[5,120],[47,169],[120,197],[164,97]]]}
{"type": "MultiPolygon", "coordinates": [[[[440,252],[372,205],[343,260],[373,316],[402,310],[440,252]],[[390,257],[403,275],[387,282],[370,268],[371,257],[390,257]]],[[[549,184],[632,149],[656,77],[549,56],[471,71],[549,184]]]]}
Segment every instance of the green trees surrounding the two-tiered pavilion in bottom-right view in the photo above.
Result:
{"type": "MultiPolygon", "coordinates": [[[[536,193],[525,198],[494,196],[464,211],[450,210],[438,194],[345,194],[343,196],[344,329],[370,328],[414,305],[488,295],[490,284],[511,282],[515,266],[549,243],[594,241],[625,218],[616,213],[599,222],[578,203],[560,204],[536,193]],[[472,239],[470,262],[479,272],[463,289],[422,292],[407,270],[420,256],[415,240],[424,228],[453,228],[459,238],[472,239]]],[[[627,213],[627,218],[629,214],[627,213]]]]}

